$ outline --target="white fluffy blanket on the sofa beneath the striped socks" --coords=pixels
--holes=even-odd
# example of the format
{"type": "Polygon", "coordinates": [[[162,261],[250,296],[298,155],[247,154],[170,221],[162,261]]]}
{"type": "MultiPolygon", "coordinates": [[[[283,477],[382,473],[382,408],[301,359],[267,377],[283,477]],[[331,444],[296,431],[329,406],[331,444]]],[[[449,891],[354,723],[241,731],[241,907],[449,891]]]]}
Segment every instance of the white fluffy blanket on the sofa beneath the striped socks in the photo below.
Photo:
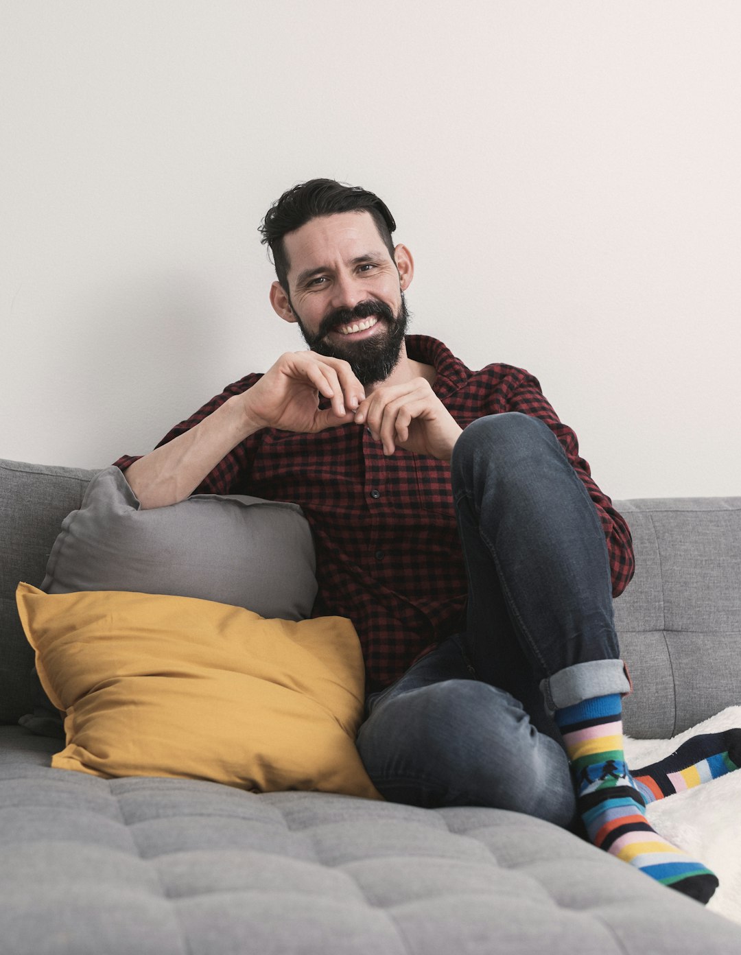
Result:
{"type": "MultiPolygon", "coordinates": [[[[689,736],[732,727],[741,727],[741,707],[729,707],[673,739],[626,737],[626,762],[639,769],[673,753],[689,736]]],[[[718,877],[708,908],[741,923],[741,770],[652,802],[646,815],[658,833],[718,877]]]]}

